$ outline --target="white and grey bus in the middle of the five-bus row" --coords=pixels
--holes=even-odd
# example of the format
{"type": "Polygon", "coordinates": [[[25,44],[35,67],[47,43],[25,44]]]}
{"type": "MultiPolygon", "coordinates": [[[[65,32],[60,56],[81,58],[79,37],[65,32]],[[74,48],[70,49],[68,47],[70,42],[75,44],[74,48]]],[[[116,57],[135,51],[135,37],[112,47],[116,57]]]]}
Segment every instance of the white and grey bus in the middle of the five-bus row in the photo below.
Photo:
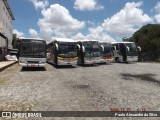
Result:
{"type": "Polygon", "coordinates": [[[100,47],[97,40],[78,42],[78,65],[101,63],[100,47]]]}

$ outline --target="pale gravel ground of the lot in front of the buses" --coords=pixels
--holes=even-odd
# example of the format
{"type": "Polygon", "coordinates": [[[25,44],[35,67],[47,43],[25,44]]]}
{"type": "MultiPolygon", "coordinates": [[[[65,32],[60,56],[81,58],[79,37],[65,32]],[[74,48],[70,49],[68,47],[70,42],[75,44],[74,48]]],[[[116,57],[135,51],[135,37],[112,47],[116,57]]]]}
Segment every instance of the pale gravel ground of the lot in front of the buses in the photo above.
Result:
{"type": "MultiPolygon", "coordinates": [[[[0,110],[109,111],[110,108],[145,108],[147,111],[160,111],[159,71],[158,63],[60,68],[47,64],[46,69],[22,69],[15,64],[0,72],[0,110]]],[[[154,117],[42,119],[160,120],[154,117]]]]}

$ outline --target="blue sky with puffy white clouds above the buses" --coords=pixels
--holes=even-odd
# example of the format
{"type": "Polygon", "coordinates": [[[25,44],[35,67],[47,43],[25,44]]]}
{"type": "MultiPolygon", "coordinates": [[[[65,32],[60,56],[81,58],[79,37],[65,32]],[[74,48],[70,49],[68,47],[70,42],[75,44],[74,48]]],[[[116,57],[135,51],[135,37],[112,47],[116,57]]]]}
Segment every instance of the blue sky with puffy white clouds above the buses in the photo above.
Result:
{"type": "Polygon", "coordinates": [[[160,23],[159,0],[8,0],[18,37],[121,41],[160,23]]]}

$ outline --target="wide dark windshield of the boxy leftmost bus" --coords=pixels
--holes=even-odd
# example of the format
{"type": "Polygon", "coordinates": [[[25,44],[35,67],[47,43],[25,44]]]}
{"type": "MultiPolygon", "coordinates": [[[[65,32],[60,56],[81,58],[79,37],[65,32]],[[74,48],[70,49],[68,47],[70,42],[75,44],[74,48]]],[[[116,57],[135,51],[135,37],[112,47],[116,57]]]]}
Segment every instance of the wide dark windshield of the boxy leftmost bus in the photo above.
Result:
{"type": "Polygon", "coordinates": [[[34,57],[34,58],[44,58],[46,57],[45,44],[34,43],[34,42],[24,42],[21,43],[21,57],[34,57]]]}

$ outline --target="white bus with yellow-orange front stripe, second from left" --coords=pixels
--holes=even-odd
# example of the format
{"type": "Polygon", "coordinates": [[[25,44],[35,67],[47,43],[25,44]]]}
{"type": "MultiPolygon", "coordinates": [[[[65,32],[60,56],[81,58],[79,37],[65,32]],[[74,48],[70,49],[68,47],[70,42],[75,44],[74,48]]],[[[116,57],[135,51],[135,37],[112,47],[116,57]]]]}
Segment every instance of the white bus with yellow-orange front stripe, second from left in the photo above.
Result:
{"type": "Polygon", "coordinates": [[[58,65],[77,64],[77,42],[68,38],[56,38],[47,45],[47,61],[58,65]]]}

